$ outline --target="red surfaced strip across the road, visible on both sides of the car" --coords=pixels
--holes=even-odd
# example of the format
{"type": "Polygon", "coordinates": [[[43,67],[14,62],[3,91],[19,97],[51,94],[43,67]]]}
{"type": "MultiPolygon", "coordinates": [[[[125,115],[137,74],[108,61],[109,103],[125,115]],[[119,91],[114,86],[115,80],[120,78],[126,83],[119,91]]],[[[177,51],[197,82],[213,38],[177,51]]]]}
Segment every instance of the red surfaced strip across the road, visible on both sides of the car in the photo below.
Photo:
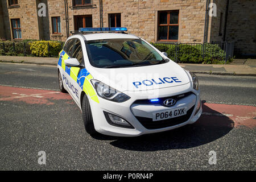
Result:
{"type": "MultiPolygon", "coordinates": [[[[0,86],[0,101],[26,102],[27,104],[53,105],[52,100],[68,100],[75,104],[69,94],[53,90],[0,86]]],[[[204,126],[256,126],[256,107],[226,104],[203,104],[203,115],[195,125],[204,126]]]]}

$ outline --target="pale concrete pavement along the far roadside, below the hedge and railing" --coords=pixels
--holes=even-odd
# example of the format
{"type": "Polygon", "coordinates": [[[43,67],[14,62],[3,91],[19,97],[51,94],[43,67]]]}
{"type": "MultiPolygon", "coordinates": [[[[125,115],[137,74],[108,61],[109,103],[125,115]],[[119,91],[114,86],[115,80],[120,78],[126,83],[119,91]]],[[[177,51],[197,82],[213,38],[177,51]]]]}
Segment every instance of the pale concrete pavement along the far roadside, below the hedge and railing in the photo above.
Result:
{"type": "MultiPolygon", "coordinates": [[[[57,57],[0,56],[2,63],[57,65],[57,57]]],[[[232,64],[187,64],[179,63],[194,73],[212,75],[256,76],[256,59],[234,60],[232,64]]]]}

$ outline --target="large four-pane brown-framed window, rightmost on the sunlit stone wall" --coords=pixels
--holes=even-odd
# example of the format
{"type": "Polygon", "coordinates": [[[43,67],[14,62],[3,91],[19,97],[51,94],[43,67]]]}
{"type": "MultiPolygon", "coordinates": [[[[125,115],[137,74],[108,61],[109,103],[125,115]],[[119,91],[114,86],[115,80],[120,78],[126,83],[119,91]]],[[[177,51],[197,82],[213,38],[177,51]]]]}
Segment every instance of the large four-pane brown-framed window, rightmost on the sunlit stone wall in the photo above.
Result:
{"type": "Polygon", "coordinates": [[[158,12],[158,40],[177,41],[179,37],[179,11],[158,12]]]}

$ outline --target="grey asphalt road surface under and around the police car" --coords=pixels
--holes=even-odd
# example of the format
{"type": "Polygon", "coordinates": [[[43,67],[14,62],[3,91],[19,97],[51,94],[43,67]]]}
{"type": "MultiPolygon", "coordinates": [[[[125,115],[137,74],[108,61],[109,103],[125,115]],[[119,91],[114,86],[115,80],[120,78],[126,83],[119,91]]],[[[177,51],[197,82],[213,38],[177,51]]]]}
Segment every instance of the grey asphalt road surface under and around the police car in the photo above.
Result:
{"type": "Polygon", "coordinates": [[[198,76],[206,103],[195,124],[136,138],[91,137],[79,107],[56,92],[56,67],[0,63],[0,169],[255,170],[256,78],[198,76]],[[239,110],[254,114],[250,125],[247,115],[231,117],[239,110]],[[46,165],[38,164],[39,151],[46,165]],[[208,162],[210,151],[216,164],[208,162]]]}

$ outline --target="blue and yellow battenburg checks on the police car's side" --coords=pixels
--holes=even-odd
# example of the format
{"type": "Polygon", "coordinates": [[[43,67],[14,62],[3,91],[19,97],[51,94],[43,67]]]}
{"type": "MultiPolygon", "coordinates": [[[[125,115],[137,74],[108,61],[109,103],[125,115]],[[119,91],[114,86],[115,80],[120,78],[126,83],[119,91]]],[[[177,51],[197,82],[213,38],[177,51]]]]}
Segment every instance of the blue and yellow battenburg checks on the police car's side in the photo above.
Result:
{"type": "Polygon", "coordinates": [[[81,69],[80,71],[80,68],[78,67],[67,67],[64,63],[64,60],[70,59],[70,57],[67,55],[67,53],[65,53],[65,51],[62,50],[60,52],[60,56],[58,65],[63,68],[63,70],[65,70],[65,72],[67,72],[67,74],[71,76],[71,78],[73,78],[77,84],[79,84],[80,88],[85,92],[87,96],[90,96],[93,101],[100,103],[92,84],[90,84],[90,80],[93,79],[93,76],[90,75],[90,73],[85,68],[81,69]],[[63,56],[63,59],[61,59],[60,56],[63,56]]]}

